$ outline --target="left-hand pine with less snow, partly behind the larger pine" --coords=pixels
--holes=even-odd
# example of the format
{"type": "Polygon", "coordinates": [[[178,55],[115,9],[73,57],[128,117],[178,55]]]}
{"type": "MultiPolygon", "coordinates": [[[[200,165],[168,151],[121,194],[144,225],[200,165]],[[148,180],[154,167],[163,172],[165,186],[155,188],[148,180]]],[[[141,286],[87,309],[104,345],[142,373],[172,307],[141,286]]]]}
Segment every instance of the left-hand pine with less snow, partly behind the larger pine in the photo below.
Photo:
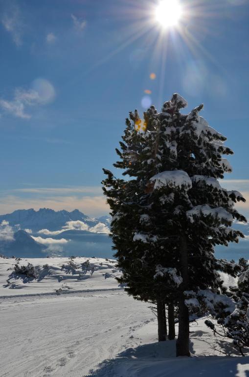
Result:
{"type": "MultiPolygon", "coordinates": [[[[158,340],[161,341],[165,340],[166,335],[165,302],[170,290],[160,278],[163,275],[160,268],[156,270],[166,255],[164,225],[158,217],[161,202],[158,201],[157,206],[151,208],[153,195],[149,192],[149,178],[158,172],[162,152],[158,148],[161,131],[156,114],[154,107],[144,114],[147,131],[141,134],[136,130],[137,124],[141,122],[139,115],[136,110],[131,112],[131,120],[126,120],[127,128],[120,142],[122,152],[116,150],[122,160],[114,166],[125,169],[124,175],[136,179],[116,179],[110,171],[104,169],[108,178],[103,184],[113,215],[111,230],[114,249],[117,250],[115,256],[119,268],[123,270],[119,282],[126,283],[126,291],[135,298],[157,304],[158,340]],[[160,240],[156,235],[159,231],[162,234],[160,240]],[[158,250],[161,250],[160,254],[158,250]]],[[[171,269],[170,272],[174,273],[175,270],[171,269]]]]}

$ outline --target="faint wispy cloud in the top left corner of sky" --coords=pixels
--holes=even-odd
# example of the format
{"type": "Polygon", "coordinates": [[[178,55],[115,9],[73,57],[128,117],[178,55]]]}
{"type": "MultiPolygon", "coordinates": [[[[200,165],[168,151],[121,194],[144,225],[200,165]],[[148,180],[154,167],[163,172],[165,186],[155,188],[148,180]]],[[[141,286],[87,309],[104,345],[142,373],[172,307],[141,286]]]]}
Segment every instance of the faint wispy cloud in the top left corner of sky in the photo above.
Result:
{"type": "Polygon", "coordinates": [[[12,4],[4,9],[1,24],[11,34],[16,46],[20,47],[23,44],[23,20],[20,8],[12,4]]]}

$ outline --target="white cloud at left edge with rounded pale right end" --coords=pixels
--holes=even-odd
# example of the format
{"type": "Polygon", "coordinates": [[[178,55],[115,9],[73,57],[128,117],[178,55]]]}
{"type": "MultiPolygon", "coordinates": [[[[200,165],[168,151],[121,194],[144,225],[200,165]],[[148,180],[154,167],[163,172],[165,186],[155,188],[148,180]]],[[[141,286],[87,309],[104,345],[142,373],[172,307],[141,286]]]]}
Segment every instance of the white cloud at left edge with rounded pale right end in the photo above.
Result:
{"type": "Polygon", "coordinates": [[[26,113],[26,107],[46,105],[52,102],[54,97],[53,85],[45,79],[36,79],[29,89],[16,88],[12,101],[0,99],[0,108],[18,118],[30,119],[31,115],[26,113]]]}

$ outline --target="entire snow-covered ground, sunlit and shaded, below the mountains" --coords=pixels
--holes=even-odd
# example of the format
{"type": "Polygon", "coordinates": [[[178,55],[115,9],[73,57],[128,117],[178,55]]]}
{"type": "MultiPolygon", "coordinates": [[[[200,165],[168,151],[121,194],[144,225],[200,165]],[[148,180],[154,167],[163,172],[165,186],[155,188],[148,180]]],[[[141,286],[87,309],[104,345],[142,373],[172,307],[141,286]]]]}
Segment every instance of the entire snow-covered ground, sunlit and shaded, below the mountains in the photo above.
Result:
{"type": "Polygon", "coordinates": [[[61,270],[68,258],[23,259],[40,275],[23,281],[16,261],[0,258],[1,377],[249,376],[249,356],[215,337],[204,318],[190,326],[193,357],[176,358],[175,341],[157,342],[150,305],[118,287],[115,261],[89,259],[95,270],[82,280],[80,269],[61,270]]]}

